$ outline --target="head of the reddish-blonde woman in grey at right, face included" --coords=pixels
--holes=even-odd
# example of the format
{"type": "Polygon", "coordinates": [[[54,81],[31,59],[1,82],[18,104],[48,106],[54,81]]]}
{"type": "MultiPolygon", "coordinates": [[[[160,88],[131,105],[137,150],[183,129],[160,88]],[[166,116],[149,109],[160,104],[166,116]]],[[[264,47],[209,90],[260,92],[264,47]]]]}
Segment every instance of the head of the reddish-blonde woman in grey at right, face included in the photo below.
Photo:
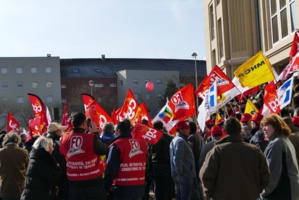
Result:
{"type": "Polygon", "coordinates": [[[278,137],[284,135],[289,137],[291,130],[288,125],[283,121],[283,119],[276,114],[270,114],[261,121],[261,127],[264,134],[270,137],[278,137]]]}

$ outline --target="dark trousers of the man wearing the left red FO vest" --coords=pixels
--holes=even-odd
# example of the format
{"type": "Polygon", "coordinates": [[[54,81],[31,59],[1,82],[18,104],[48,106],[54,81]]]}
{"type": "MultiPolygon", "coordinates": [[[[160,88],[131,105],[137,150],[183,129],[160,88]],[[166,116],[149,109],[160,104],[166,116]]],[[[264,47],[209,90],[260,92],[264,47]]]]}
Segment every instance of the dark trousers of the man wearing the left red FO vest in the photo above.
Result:
{"type": "Polygon", "coordinates": [[[103,185],[88,188],[70,187],[69,200],[106,200],[105,188],[103,185]]]}

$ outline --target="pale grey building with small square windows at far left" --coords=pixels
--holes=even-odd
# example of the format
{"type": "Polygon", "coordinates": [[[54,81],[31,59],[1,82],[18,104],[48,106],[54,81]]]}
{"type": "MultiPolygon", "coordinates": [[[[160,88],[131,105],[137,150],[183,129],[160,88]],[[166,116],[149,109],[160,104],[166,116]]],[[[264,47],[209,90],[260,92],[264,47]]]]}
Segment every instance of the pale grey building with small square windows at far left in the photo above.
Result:
{"type": "Polygon", "coordinates": [[[29,102],[33,93],[48,105],[61,104],[60,58],[0,58],[0,103],[29,102]]]}

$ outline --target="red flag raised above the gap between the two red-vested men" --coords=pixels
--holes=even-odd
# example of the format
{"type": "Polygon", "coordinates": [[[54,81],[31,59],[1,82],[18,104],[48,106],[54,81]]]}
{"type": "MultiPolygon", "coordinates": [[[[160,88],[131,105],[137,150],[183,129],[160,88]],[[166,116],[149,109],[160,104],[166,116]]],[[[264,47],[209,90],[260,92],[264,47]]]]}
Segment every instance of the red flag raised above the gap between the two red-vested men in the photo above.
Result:
{"type": "Polygon", "coordinates": [[[106,122],[113,123],[112,118],[95,100],[86,107],[85,115],[100,128],[100,131],[102,131],[106,122]]]}

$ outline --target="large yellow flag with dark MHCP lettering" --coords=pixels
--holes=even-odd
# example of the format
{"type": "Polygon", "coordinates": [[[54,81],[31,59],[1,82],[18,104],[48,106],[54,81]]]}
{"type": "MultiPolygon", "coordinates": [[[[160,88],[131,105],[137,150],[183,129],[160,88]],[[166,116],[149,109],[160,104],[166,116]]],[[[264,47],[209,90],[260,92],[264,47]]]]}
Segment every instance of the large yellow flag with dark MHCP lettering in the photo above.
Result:
{"type": "Polygon", "coordinates": [[[271,64],[262,51],[243,63],[235,72],[243,87],[261,85],[274,79],[271,64]]]}

